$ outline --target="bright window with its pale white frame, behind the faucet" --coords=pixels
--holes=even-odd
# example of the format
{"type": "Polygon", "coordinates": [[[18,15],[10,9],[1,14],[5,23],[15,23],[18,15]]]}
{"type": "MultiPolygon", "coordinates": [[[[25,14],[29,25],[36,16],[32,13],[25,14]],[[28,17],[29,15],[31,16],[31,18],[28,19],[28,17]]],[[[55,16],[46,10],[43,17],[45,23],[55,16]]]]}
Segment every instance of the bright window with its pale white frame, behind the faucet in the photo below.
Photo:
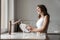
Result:
{"type": "Polygon", "coordinates": [[[14,0],[1,0],[1,33],[8,31],[9,21],[14,22],[14,0]]]}

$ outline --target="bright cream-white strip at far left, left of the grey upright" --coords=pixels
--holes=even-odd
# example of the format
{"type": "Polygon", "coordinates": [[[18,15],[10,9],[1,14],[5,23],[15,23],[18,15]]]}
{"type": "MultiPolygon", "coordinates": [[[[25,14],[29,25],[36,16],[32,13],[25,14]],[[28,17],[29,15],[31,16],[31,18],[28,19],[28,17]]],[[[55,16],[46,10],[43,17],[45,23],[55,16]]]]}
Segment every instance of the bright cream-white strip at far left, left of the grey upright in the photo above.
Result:
{"type": "Polygon", "coordinates": [[[1,0],[1,32],[8,27],[8,0],[1,0]]]}

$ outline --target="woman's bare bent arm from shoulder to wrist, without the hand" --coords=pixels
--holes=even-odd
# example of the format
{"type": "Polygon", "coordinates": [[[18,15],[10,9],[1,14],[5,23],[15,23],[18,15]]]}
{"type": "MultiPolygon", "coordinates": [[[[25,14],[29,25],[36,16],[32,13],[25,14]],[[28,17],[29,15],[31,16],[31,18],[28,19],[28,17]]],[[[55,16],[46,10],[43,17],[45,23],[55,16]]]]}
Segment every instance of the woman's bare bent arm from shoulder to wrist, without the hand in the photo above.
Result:
{"type": "Polygon", "coordinates": [[[47,27],[48,27],[48,23],[49,23],[49,17],[45,16],[43,25],[41,28],[37,29],[37,28],[32,28],[30,31],[31,32],[43,32],[47,27]]]}

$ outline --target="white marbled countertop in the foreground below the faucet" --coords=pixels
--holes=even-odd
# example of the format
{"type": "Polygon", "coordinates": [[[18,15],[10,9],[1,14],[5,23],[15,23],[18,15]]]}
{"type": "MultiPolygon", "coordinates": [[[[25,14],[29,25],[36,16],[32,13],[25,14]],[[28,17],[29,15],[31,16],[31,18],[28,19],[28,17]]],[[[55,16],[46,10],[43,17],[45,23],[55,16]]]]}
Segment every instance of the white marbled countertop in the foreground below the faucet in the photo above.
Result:
{"type": "Polygon", "coordinates": [[[46,39],[46,34],[17,32],[9,35],[8,33],[5,33],[5,34],[1,34],[1,39],[46,39]]]}

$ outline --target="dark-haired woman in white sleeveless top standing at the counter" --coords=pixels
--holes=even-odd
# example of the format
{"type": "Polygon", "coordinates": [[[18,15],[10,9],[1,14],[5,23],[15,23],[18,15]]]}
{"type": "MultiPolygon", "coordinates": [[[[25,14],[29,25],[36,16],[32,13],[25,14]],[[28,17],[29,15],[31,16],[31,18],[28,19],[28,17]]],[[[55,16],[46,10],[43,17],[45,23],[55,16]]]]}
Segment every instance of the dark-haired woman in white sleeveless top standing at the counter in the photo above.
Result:
{"type": "Polygon", "coordinates": [[[47,12],[47,8],[45,5],[37,5],[37,13],[39,20],[36,23],[36,27],[28,26],[27,29],[30,32],[40,32],[40,33],[47,33],[47,28],[50,20],[50,16],[47,12]]]}

